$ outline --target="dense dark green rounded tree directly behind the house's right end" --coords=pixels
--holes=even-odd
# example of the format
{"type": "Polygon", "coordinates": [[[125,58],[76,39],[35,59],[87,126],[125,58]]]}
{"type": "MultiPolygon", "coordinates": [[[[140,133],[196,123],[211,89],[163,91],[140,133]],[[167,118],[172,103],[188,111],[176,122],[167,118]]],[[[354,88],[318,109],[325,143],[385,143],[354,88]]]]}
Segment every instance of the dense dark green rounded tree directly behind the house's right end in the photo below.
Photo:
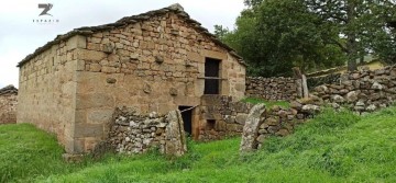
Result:
{"type": "Polygon", "coordinates": [[[290,76],[295,66],[311,71],[342,64],[342,52],[322,42],[319,23],[299,0],[265,0],[241,12],[238,28],[219,37],[243,56],[249,75],[290,76]]]}

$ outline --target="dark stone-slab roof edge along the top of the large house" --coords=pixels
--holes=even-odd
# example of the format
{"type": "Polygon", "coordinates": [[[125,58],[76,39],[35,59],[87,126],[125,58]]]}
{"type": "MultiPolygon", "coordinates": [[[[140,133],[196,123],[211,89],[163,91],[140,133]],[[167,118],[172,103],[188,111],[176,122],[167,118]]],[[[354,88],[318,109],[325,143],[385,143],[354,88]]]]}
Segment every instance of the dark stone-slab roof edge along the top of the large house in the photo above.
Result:
{"type": "Polygon", "coordinates": [[[53,45],[58,44],[62,41],[66,41],[66,39],[70,38],[72,36],[75,36],[75,35],[91,35],[91,34],[97,33],[97,32],[112,30],[114,27],[122,27],[122,26],[127,26],[127,25],[130,25],[130,24],[141,22],[141,21],[145,21],[145,20],[148,20],[150,18],[152,18],[154,15],[163,15],[163,14],[166,14],[168,12],[174,12],[179,18],[184,19],[186,22],[191,24],[193,27],[197,32],[208,36],[210,38],[210,41],[212,41],[217,45],[226,48],[228,52],[230,52],[230,54],[232,56],[234,56],[238,59],[238,61],[240,64],[246,66],[246,64],[242,60],[242,57],[239,56],[235,53],[234,49],[232,49],[231,47],[229,47],[228,45],[226,45],[224,43],[219,41],[213,34],[209,33],[209,31],[207,28],[202,27],[199,22],[191,19],[188,15],[188,13],[186,13],[184,11],[184,8],[180,4],[175,3],[175,4],[172,4],[172,5],[163,8],[163,9],[148,11],[148,12],[141,13],[141,14],[138,14],[138,15],[125,16],[125,18],[122,18],[122,19],[120,19],[119,21],[117,21],[114,23],[109,23],[109,24],[98,25],[98,26],[82,26],[82,27],[79,27],[79,28],[75,28],[75,30],[73,30],[73,31],[70,31],[70,32],[68,32],[66,34],[57,35],[54,41],[51,41],[51,42],[46,43],[44,46],[38,47],[33,54],[28,55],[22,61],[20,61],[18,64],[18,67],[23,66],[24,64],[26,64],[29,60],[31,60],[35,56],[37,56],[37,55],[42,54],[44,50],[51,48],[53,45]]]}

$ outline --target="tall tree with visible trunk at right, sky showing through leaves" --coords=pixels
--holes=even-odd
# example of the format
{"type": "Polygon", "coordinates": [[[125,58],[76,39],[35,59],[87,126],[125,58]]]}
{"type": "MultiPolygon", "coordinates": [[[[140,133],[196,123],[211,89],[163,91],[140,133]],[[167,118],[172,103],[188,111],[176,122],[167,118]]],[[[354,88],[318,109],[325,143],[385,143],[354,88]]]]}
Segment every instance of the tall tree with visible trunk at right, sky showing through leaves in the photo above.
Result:
{"type": "Polygon", "coordinates": [[[348,69],[356,70],[356,59],[389,44],[386,19],[395,12],[393,0],[305,0],[340,39],[323,37],[348,55],[348,69]]]}

